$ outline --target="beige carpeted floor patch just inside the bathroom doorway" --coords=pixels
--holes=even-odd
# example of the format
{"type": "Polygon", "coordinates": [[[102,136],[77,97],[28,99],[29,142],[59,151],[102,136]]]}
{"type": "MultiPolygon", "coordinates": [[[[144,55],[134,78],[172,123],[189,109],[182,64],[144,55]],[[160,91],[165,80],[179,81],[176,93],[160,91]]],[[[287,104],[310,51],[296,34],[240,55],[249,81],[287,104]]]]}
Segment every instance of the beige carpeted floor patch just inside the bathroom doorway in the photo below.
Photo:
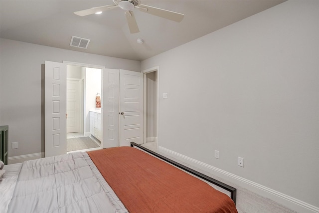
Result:
{"type": "Polygon", "coordinates": [[[66,151],[75,151],[99,147],[90,137],[66,139],[66,151]]]}

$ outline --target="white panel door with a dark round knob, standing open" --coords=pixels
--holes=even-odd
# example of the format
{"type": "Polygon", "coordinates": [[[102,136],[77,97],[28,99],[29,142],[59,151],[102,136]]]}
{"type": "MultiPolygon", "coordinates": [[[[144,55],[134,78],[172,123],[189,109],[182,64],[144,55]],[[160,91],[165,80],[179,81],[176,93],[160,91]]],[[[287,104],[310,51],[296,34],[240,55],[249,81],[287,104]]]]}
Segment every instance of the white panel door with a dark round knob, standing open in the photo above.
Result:
{"type": "Polygon", "coordinates": [[[143,73],[120,70],[120,146],[143,143],[143,73]]]}

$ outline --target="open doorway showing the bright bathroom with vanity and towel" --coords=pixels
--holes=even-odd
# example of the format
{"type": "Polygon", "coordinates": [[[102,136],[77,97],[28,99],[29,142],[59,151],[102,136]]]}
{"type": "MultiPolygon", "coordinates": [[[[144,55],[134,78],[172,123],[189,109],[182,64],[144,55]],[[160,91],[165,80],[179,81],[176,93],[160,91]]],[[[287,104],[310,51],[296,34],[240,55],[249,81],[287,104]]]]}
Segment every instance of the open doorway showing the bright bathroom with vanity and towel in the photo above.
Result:
{"type": "Polygon", "coordinates": [[[101,69],[67,65],[67,153],[101,149],[101,76],[101,69]]]}

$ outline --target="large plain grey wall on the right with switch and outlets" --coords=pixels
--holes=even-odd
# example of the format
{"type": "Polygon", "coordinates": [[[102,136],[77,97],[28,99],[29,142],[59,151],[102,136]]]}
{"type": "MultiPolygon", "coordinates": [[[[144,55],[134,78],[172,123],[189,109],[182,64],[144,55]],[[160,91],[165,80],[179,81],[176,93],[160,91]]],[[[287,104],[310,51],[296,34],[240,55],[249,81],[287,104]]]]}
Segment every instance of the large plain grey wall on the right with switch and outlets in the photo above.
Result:
{"type": "Polygon", "coordinates": [[[286,1],[141,64],[155,66],[161,147],[319,210],[319,1],[286,1]]]}

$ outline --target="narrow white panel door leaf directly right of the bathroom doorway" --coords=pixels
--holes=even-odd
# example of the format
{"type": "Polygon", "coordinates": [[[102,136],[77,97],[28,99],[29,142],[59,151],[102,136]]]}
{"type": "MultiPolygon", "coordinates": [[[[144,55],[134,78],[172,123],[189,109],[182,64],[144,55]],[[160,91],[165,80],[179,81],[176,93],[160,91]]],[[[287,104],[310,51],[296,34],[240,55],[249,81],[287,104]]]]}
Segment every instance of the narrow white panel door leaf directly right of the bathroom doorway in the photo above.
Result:
{"type": "Polygon", "coordinates": [[[119,146],[119,70],[102,70],[102,147],[119,146]]]}

